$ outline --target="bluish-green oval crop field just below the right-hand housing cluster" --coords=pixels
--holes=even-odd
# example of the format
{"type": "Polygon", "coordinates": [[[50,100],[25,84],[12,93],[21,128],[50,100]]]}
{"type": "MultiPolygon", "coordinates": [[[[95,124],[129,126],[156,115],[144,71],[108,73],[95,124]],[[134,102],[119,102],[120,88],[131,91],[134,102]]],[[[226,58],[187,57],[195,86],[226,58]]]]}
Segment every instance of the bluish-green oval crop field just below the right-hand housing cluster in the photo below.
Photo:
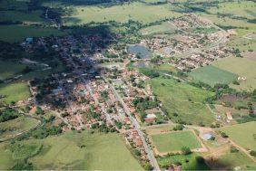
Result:
{"type": "Polygon", "coordinates": [[[204,66],[189,73],[194,81],[202,81],[211,86],[217,83],[229,84],[237,80],[237,75],[231,71],[224,71],[212,65],[204,66]]]}

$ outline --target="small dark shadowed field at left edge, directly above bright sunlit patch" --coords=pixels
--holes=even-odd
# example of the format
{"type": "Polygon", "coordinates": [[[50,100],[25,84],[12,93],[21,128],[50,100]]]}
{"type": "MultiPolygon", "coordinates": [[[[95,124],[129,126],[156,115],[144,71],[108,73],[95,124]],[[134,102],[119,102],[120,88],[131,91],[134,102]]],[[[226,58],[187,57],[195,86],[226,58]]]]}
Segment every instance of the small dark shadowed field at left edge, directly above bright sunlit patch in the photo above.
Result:
{"type": "Polygon", "coordinates": [[[0,80],[15,77],[16,74],[20,73],[24,69],[25,65],[23,64],[10,61],[0,61],[0,80]]]}

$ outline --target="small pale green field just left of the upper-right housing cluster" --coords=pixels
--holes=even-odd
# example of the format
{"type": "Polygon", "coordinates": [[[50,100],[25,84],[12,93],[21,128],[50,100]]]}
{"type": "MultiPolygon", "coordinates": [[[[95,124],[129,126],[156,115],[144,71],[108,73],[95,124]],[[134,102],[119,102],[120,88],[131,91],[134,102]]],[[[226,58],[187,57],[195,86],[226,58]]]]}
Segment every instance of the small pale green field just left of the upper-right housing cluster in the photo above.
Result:
{"type": "Polygon", "coordinates": [[[155,33],[175,33],[176,27],[169,22],[164,22],[159,25],[153,25],[140,30],[143,35],[151,35],[155,33]]]}

